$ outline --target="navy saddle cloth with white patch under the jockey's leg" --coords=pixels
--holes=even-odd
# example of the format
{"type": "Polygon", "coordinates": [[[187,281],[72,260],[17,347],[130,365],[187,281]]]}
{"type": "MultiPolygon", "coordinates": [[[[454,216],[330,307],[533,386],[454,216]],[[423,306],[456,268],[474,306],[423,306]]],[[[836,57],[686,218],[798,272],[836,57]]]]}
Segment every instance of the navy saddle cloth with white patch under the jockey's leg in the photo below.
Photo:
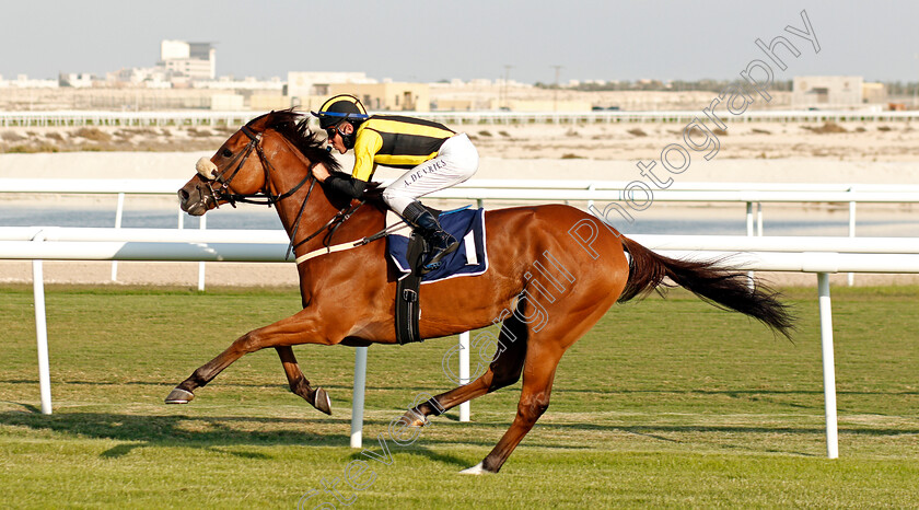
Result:
{"type": "MultiPolygon", "coordinates": [[[[396,220],[400,221],[398,218],[396,220]]],[[[443,230],[450,232],[451,235],[456,237],[456,241],[460,241],[460,247],[443,257],[441,266],[424,275],[421,282],[460,276],[476,276],[485,273],[488,269],[488,254],[485,247],[485,209],[463,208],[441,212],[438,221],[440,221],[443,230]]],[[[393,258],[396,268],[403,274],[399,279],[405,278],[411,271],[406,256],[409,234],[411,234],[411,229],[406,225],[386,236],[389,257],[393,258]]]]}

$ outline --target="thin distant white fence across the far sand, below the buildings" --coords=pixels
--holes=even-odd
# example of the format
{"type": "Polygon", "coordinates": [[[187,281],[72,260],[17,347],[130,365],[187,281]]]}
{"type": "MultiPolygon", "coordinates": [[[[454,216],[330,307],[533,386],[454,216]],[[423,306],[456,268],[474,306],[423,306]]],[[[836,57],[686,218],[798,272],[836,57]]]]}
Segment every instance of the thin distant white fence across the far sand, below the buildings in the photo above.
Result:
{"type": "MultiPolygon", "coordinates": [[[[225,126],[239,127],[265,112],[0,112],[0,126],[225,126]]],[[[476,124],[689,124],[703,117],[699,109],[626,112],[396,112],[452,125],[476,124]]],[[[747,111],[735,123],[916,121],[919,112],[883,111],[747,111]]],[[[314,121],[311,119],[311,121],[314,121]]]]}

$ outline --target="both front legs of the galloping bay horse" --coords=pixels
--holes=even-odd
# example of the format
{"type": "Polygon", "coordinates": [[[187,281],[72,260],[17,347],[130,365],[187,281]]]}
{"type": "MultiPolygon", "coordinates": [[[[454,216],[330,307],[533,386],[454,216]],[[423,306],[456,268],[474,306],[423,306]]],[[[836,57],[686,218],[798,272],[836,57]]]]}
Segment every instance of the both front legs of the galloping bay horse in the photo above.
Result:
{"type": "MultiPolygon", "coordinates": [[[[315,392],[311,391],[309,382],[306,382],[303,373],[296,367],[296,359],[293,358],[293,351],[290,349],[290,346],[299,344],[331,345],[340,341],[340,338],[344,337],[341,334],[330,336],[329,332],[319,329],[319,327],[317,314],[312,311],[302,310],[295,315],[246,333],[233,341],[226,350],[195,370],[188,379],[176,386],[166,397],[166,404],[187,404],[195,397],[195,390],[211,382],[223,369],[242,358],[243,355],[255,352],[266,347],[280,347],[281,349],[278,353],[281,356],[288,380],[291,381],[291,376],[293,376],[291,381],[292,389],[294,387],[294,383],[296,383],[295,387],[298,390],[305,390],[307,396],[304,396],[304,398],[307,402],[310,402],[309,395],[312,394],[313,402],[310,403],[316,406],[317,409],[328,413],[330,410],[328,395],[324,395],[323,397],[318,395],[318,390],[315,392]],[[282,352],[284,349],[290,355],[289,358],[287,353],[282,352]],[[324,410],[323,407],[329,408],[329,410],[324,410]]],[[[298,391],[294,391],[294,393],[298,393],[298,391]]],[[[325,392],[322,393],[325,394],[325,392]]],[[[303,396],[301,393],[298,394],[303,396]]]]}

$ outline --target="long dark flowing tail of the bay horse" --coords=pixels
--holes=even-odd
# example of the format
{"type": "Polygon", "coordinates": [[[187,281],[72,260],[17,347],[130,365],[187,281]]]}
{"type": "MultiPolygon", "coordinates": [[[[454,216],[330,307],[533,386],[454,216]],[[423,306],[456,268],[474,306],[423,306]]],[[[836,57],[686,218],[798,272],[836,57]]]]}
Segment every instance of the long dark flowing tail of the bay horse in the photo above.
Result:
{"type": "Polygon", "coordinates": [[[629,253],[629,279],[618,301],[645,295],[659,286],[668,286],[664,277],[718,308],[749,315],[772,331],[791,338],[794,317],[779,301],[778,292],[756,282],[753,288],[745,273],[722,266],[721,260],[678,260],[659,255],[623,235],[629,253]]]}

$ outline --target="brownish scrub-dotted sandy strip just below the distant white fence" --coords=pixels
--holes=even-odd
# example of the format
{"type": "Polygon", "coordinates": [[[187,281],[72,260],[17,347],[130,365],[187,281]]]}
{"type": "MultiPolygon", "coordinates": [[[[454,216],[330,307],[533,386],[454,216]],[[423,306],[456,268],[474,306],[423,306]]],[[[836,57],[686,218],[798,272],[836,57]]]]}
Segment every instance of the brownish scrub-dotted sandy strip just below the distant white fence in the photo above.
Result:
{"type": "MultiPolygon", "coordinates": [[[[700,114],[701,115],[701,114],[700,114]]],[[[917,162],[919,129],[908,123],[818,125],[807,123],[732,123],[714,132],[716,161],[730,159],[809,159],[828,161],[917,162]],[[839,130],[839,132],[834,132],[839,130]]],[[[670,143],[682,142],[685,125],[456,125],[475,139],[482,157],[509,159],[650,160],[670,143]]],[[[84,151],[213,152],[232,130],[223,127],[156,128],[0,128],[0,152],[84,151]]],[[[702,140],[694,135],[697,141],[702,140]]],[[[15,154],[4,154],[5,157],[15,154]]],[[[3,164],[2,166],[7,166],[3,164]]],[[[181,169],[178,169],[181,171],[181,169]]],[[[869,176],[870,177],[870,176],[869,176]]],[[[693,177],[697,179],[698,177],[693,177]]],[[[819,178],[819,177],[818,177],[819,178]]],[[[831,178],[827,176],[824,178],[831,178]]],[[[916,177],[914,177],[915,179],[916,177]]]]}

